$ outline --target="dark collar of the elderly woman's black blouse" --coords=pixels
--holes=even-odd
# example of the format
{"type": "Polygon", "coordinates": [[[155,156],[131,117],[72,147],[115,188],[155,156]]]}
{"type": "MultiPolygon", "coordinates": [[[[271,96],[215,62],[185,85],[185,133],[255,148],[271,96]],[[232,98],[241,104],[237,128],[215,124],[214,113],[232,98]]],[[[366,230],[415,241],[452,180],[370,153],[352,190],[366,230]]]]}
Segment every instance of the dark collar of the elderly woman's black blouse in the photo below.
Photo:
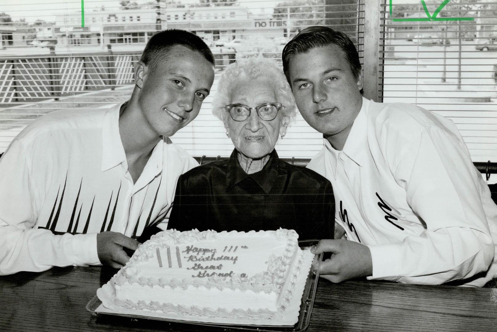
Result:
{"type": "Polygon", "coordinates": [[[228,190],[247,177],[250,177],[259,185],[264,193],[269,194],[274,181],[276,181],[276,177],[278,176],[278,162],[278,154],[276,153],[276,150],[273,149],[269,155],[269,160],[261,170],[255,173],[247,174],[238,162],[238,151],[236,149],[233,150],[230,159],[228,160],[228,190]]]}

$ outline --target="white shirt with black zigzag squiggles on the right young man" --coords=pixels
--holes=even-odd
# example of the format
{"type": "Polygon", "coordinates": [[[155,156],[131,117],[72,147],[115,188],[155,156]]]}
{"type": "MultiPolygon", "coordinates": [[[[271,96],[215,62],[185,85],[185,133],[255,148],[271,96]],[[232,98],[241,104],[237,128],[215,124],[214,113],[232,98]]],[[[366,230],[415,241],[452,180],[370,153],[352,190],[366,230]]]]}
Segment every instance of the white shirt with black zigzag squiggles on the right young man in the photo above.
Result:
{"type": "Polygon", "coordinates": [[[496,275],[497,206],[452,121],[363,98],[343,150],[324,143],[308,167],[331,181],[347,238],[371,250],[369,279],[483,286],[496,275]]]}

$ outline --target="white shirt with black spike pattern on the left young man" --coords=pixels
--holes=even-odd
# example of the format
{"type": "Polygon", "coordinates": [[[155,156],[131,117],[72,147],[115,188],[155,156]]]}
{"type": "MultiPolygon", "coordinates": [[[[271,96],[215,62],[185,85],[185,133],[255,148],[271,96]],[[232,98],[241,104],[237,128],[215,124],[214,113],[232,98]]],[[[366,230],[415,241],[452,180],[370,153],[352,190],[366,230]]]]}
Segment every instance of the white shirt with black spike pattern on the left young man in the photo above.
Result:
{"type": "Polygon", "coordinates": [[[164,138],[134,183],[121,105],[55,111],[12,141],[0,159],[0,274],[99,264],[97,233],[137,237],[164,220],[179,175],[198,163],[164,138]]]}

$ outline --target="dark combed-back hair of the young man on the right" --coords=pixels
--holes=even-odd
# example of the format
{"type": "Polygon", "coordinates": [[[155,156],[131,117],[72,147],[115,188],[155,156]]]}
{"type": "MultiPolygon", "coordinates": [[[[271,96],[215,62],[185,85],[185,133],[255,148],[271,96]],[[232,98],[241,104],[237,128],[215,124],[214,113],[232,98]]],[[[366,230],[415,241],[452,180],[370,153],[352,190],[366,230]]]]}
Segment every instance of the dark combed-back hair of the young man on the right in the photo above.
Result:
{"type": "Polygon", "coordinates": [[[281,58],[283,59],[283,72],[288,83],[290,83],[288,65],[292,57],[297,54],[307,53],[313,48],[325,47],[331,44],[338,46],[343,51],[350,70],[357,80],[361,75],[361,63],[354,43],[343,32],[335,31],[327,26],[315,25],[300,31],[283,48],[281,58]]]}

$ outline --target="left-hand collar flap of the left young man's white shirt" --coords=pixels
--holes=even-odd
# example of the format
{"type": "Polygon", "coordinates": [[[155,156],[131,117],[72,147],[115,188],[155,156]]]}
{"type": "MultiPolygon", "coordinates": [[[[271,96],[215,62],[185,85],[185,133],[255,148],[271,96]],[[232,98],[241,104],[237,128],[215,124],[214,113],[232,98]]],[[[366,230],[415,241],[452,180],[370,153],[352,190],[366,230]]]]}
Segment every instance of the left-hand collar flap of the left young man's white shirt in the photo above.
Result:
{"type": "Polygon", "coordinates": [[[113,106],[103,116],[102,171],[126,161],[126,154],[119,134],[119,112],[122,104],[124,102],[113,106]]]}

